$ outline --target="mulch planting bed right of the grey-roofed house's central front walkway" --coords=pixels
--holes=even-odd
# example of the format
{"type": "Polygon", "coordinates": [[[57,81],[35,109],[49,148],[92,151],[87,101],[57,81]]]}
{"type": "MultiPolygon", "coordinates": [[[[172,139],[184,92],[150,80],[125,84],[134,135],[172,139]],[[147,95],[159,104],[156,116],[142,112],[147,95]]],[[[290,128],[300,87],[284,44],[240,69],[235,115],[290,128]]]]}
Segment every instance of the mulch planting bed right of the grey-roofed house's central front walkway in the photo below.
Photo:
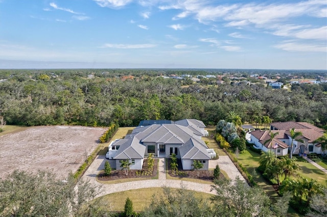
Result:
{"type": "MultiPolygon", "coordinates": [[[[177,159],[178,171],[174,172],[170,167],[171,162],[172,162],[171,158],[167,159],[168,174],[171,177],[191,178],[191,179],[199,179],[199,180],[203,180],[203,181],[213,181],[214,180],[214,171],[213,170],[200,170],[200,171],[183,170],[181,160],[177,159]],[[198,172],[199,172],[199,176],[197,176],[198,172]]],[[[224,175],[222,173],[220,173],[220,178],[222,178],[222,177],[224,177],[224,175]]]]}

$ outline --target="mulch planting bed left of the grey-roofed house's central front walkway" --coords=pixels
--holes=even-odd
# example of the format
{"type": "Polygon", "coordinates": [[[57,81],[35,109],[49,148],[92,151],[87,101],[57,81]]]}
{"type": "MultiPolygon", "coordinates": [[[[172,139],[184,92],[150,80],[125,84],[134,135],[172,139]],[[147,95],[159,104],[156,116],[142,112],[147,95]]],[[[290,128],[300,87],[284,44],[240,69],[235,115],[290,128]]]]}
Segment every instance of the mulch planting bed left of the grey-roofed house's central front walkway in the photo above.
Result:
{"type": "Polygon", "coordinates": [[[100,181],[111,181],[118,179],[129,179],[129,178],[151,178],[156,177],[158,173],[158,159],[154,159],[154,167],[152,171],[152,175],[136,175],[136,171],[148,171],[148,159],[144,159],[142,170],[130,170],[128,171],[128,175],[125,175],[124,170],[112,170],[110,176],[104,176],[104,172],[102,171],[98,175],[98,180],[100,181]]]}

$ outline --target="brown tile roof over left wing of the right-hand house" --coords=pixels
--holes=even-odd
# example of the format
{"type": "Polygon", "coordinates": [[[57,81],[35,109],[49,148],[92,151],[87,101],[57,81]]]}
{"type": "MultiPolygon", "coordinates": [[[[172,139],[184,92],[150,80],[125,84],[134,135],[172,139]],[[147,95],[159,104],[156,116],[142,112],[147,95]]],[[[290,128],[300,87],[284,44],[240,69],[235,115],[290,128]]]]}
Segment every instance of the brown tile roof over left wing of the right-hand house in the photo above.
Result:
{"type": "Polygon", "coordinates": [[[270,135],[269,135],[269,130],[254,130],[252,132],[250,132],[250,134],[253,135],[253,137],[255,137],[256,139],[259,140],[259,142],[264,145],[266,148],[270,148],[270,144],[275,145],[276,143],[278,144],[278,146],[282,147],[282,148],[288,148],[288,145],[284,142],[282,142],[280,139],[288,139],[285,136],[285,130],[271,130],[271,132],[275,133],[278,131],[278,134],[276,135],[276,137],[272,140],[272,143],[266,143],[265,142],[267,140],[270,139],[270,135]]]}

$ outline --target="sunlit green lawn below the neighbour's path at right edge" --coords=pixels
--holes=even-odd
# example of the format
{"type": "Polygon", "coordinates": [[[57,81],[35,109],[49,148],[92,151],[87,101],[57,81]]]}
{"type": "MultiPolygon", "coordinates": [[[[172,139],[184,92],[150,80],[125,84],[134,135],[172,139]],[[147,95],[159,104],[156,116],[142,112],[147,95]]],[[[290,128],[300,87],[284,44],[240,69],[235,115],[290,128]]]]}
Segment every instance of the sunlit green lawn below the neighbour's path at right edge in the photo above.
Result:
{"type": "Polygon", "coordinates": [[[298,174],[308,180],[314,179],[318,183],[326,185],[327,174],[310,164],[309,162],[298,162],[300,171],[298,174]]]}

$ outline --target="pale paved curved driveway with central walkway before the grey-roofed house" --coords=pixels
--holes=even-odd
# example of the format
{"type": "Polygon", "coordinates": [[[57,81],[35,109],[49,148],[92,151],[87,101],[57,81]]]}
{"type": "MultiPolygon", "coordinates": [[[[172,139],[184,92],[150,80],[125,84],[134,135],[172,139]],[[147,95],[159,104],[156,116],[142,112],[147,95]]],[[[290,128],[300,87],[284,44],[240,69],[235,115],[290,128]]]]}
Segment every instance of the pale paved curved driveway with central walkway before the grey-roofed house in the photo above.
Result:
{"type": "MultiPolygon", "coordinates": [[[[90,183],[101,188],[100,194],[97,197],[132,189],[164,186],[172,188],[181,188],[183,186],[192,191],[215,194],[215,192],[211,192],[211,184],[166,179],[165,158],[159,158],[158,179],[130,181],[117,184],[102,184],[96,180],[96,176],[101,170],[104,169],[105,161],[106,158],[104,155],[97,155],[96,159],[92,162],[83,175],[85,180],[88,180],[90,183]]],[[[219,165],[220,169],[224,170],[228,174],[230,179],[235,180],[236,176],[239,176],[241,180],[244,180],[243,176],[235,165],[233,165],[228,156],[220,156],[218,160],[209,161],[209,168],[215,168],[217,164],[219,165]]]]}

